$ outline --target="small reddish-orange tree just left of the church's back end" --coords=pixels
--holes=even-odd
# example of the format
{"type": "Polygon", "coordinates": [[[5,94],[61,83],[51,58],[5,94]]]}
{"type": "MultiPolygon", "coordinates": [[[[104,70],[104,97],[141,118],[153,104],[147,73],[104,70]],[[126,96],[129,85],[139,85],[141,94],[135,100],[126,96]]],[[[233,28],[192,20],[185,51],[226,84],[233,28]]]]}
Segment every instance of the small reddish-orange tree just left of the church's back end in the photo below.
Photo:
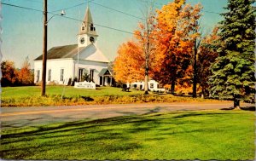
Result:
{"type": "Polygon", "coordinates": [[[23,65],[18,73],[18,80],[20,85],[32,85],[34,82],[34,75],[30,68],[28,57],[23,62],[23,65]]]}

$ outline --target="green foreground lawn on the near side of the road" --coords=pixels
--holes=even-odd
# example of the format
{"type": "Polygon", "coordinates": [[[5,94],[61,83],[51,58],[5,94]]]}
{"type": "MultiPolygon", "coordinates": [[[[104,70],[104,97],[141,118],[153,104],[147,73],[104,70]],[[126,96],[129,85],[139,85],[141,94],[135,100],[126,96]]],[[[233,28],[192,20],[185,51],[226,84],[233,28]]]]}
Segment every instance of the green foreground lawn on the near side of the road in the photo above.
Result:
{"type": "Polygon", "coordinates": [[[253,160],[254,113],[149,113],[1,131],[5,159],[253,160]]]}

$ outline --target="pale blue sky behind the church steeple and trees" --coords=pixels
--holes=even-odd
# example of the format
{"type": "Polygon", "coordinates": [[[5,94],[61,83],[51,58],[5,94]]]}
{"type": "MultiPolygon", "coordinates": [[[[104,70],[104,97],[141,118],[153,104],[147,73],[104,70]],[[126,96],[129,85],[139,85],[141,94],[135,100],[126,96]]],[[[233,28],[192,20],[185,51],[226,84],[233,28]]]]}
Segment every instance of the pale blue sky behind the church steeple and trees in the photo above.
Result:
{"type": "MultiPolygon", "coordinates": [[[[15,67],[20,68],[28,56],[33,68],[33,60],[43,51],[43,0],[0,0],[29,9],[2,4],[1,27],[2,27],[2,60],[12,60],[15,67]],[[34,11],[30,9],[37,9],[34,11]]],[[[48,11],[59,14],[65,9],[65,16],[48,14],[48,49],[77,43],[79,26],[84,20],[87,5],[90,7],[92,19],[96,25],[97,46],[109,60],[114,60],[117,49],[121,43],[131,40],[137,24],[143,17],[143,10],[147,0],[48,0],[48,11]],[[109,9],[111,8],[111,9],[109,9]],[[125,14],[122,14],[121,11],[125,14]],[[118,29],[113,30],[113,29],[118,29]],[[123,32],[120,32],[123,31],[123,32]]],[[[162,5],[172,2],[168,0],[155,0],[155,8],[160,9],[162,5]]],[[[201,29],[209,33],[212,28],[223,18],[218,13],[224,13],[226,0],[187,0],[187,3],[195,5],[201,3],[201,29]]]]}

